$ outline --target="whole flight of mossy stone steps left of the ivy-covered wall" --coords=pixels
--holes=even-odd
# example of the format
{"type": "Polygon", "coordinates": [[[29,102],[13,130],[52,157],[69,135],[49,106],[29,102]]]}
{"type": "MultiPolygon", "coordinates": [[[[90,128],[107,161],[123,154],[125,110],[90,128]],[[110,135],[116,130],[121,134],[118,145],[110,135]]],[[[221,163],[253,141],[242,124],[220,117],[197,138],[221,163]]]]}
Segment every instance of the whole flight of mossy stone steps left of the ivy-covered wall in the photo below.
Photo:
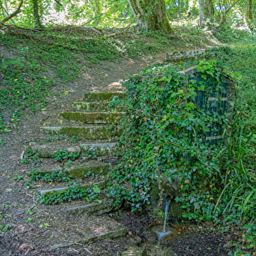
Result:
{"type": "MultiPolygon", "coordinates": [[[[72,214],[82,217],[86,214],[90,216],[92,223],[97,223],[97,229],[95,229],[97,232],[94,234],[88,231],[85,236],[76,240],[79,243],[117,238],[128,232],[126,227],[109,217],[95,217],[113,210],[112,202],[105,197],[103,189],[106,186],[105,178],[109,168],[118,161],[118,158],[114,157],[117,148],[114,137],[120,132],[118,123],[124,112],[121,108],[112,110],[108,106],[112,98],[116,96],[123,97],[123,93],[85,93],[84,102],[72,104],[73,111],[59,114],[63,118],[62,126],[40,127],[40,131],[47,136],[60,136],[61,138],[63,136],[65,140],[37,141],[29,145],[40,159],[39,167],[36,167],[36,171],[34,170],[36,174],[49,176],[57,172],[65,172],[66,176],[72,176],[70,185],[67,184],[67,180],[41,182],[38,185],[41,198],[51,197],[56,193],[65,193],[71,189],[73,184],[79,185],[82,189],[93,189],[95,186],[101,189],[101,192],[97,191],[101,200],[76,200],[72,203],[61,204],[59,207],[59,213],[63,216],[72,214]],[[71,137],[74,138],[74,136],[78,139],[76,143],[71,141],[71,137]],[[79,157],[72,161],[65,159],[61,162],[56,160],[58,153],[61,157],[61,152],[64,155],[79,155],[79,157]],[[48,164],[44,165],[44,162],[48,164]]],[[[89,230],[92,224],[87,221],[82,225],[84,230],[89,230]]],[[[53,248],[59,246],[63,246],[63,243],[53,244],[53,248]]]]}

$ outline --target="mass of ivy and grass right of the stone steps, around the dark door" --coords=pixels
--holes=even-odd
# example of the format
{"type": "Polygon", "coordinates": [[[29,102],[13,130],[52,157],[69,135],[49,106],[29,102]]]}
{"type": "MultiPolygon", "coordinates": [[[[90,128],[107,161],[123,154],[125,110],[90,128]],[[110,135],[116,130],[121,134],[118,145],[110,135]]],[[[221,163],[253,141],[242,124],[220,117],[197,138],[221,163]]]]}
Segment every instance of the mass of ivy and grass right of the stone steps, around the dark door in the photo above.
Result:
{"type": "MultiPolygon", "coordinates": [[[[120,137],[126,150],[123,162],[110,174],[117,184],[110,184],[109,195],[140,210],[150,203],[152,180],[163,177],[178,187],[175,200],[184,209],[183,218],[214,221],[226,230],[244,229],[244,244],[235,255],[251,255],[256,234],[256,46],[212,48],[206,57],[214,57],[218,65],[213,60],[199,63],[197,70],[206,72],[207,82],[197,88],[191,77],[186,93],[184,78],[176,71],[189,63],[159,65],[125,82],[127,97],[116,104],[127,107],[120,137]],[[204,86],[223,81],[221,67],[232,78],[234,73],[229,71],[242,75],[236,75],[231,116],[221,120],[225,123],[223,142],[209,146],[202,140],[202,131],[221,121],[203,114],[188,99],[195,97],[195,89],[205,91],[204,86]]],[[[163,192],[161,184],[159,191],[163,192]]]]}

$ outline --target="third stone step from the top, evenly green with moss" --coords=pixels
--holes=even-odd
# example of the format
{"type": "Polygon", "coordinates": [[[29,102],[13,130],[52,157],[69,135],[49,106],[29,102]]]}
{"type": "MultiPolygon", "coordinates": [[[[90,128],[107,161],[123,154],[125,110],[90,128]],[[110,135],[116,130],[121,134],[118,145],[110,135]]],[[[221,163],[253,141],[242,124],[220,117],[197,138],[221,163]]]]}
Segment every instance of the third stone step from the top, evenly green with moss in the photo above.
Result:
{"type": "Polygon", "coordinates": [[[70,121],[83,123],[120,123],[124,112],[63,112],[61,116],[70,121]]]}

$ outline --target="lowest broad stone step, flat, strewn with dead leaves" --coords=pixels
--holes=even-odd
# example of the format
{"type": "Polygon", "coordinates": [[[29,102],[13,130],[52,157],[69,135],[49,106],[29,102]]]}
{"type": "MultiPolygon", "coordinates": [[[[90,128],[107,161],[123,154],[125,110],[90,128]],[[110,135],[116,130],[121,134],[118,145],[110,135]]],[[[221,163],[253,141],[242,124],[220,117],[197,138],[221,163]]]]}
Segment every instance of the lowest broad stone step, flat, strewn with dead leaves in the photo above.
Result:
{"type": "MultiPolygon", "coordinates": [[[[63,221],[63,216],[60,218],[63,221]]],[[[53,240],[54,244],[51,246],[52,249],[68,247],[75,244],[86,244],[107,238],[119,238],[125,236],[128,232],[125,226],[117,223],[114,219],[110,219],[110,217],[85,215],[77,217],[67,216],[66,218],[69,225],[62,225],[59,227],[58,232],[54,231],[54,227],[49,227],[49,230],[52,231],[51,229],[53,229],[52,233],[56,234],[53,240]],[[65,237],[67,233],[70,235],[69,238],[65,237]]],[[[86,253],[85,255],[94,255],[94,253],[89,251],[89,254],[86,253]]]]}

